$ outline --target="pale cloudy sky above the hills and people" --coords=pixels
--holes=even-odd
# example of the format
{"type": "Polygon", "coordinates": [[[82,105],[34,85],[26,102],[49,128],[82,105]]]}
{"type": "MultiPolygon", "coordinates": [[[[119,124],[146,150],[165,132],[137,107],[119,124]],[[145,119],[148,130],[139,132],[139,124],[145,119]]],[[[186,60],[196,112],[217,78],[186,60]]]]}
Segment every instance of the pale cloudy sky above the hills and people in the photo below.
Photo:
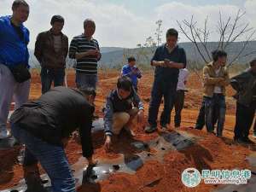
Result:
{"type": "MultiPolygon", "coordinates": [[[[0,0],[0,15],[11,15],[12,0],[0,0]]],[[[219,12],[224,20],[234,17],[239,9],[246,11],[242,23],[256,28],[256,0],[27,0],[30,15],[25,26],[31,32],[29,47],[33,49],[39,32],[49,30],[52,15],[65,19],[63,32],[69,40],[81,34],[83,21],[96,21],[96,38],[100,46],[134,48],[155,38],[156,20],[163,20],[162,31],[177,28],[177,20],[189,20],[194,15],[198,26],[208,17],[212,41],[218,39],[219,12]]],[[[164,38],[163,36],[163,38],[164,38]]],[[[243,39],[241,39],[243,40],[243,39]]],[[[189,40],[180,34],[179,42],[189,40]]]]}

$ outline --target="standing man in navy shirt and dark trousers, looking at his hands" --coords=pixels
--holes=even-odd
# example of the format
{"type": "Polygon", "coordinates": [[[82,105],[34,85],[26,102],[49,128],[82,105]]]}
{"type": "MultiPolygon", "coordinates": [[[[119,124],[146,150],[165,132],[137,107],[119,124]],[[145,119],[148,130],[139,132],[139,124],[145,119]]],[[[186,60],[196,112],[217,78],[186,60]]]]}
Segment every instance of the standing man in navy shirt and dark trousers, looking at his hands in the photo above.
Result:
{"type": "Polygon", "coordinates": [[[157,129],[157,116],[162,96],[164,96],[164,111],[160,116],[160,125],[167,128],[171,121],[171,111],[177,90],[179,69],[187,64],[183,48],[177,45],[178,32],[169,29],[166,32],[166,44],[155,50],[151,65],[155,67],[154,84],[151,91],[151,101],[148,109],[148,126],[145,131],[150,133],[157,129]]]}

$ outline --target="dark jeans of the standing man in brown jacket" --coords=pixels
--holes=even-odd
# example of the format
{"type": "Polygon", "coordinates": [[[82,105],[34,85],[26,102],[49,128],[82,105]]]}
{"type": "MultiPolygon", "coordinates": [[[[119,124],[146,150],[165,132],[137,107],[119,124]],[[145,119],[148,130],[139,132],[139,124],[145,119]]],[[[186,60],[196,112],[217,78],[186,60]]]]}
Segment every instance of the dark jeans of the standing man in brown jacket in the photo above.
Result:
{"type": "Polygon", "coordinates": [[[41,69],[42,94],[50,90],[52,82],[56,86],[62,86],[64,83],[65,69],[41,69]]]}

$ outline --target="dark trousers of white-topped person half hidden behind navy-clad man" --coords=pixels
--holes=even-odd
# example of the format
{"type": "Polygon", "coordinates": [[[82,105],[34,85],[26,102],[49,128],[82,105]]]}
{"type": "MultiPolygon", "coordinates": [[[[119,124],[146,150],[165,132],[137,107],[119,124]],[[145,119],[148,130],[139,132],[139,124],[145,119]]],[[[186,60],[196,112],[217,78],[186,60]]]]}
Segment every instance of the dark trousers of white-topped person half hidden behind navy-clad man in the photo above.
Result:
{"type": "Polygon", "coordinates": [[[175,127],[180,126],[181,123],[181,112],[184,106],[184,98],[185,98],[185,91],[184,90],[177,90],[176,97],[175,97],[175,116],[174,116],[174,124],[175,127]]]}

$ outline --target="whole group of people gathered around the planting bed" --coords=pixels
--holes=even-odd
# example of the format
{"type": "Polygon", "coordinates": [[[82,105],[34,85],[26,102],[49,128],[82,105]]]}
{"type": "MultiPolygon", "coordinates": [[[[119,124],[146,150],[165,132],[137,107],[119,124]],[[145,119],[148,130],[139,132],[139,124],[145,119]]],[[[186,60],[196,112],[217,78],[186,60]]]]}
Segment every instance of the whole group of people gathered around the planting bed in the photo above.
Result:
{"type": "MultiPolygon", "coordinates": [[[[84,33],[72,39],[61,32],[64,18],[54,15],[51,28],[38,34],[34,55],[41,66],[42,96],[27,102],[30,90],[29,31],[23,25],[29,15],[29,5],[24,0],[15,0],[13,15],[0,17],[0,139],[10,137],[7,129],[9,106],[14,99],[15,113],[10,119],[13,137],[26,145],[24,177],[27,192],[45,191],[38,172],[38,161],[49,175],[53,191],[74,192],[75,180],[67,162],[65,146],[73,131],[78,130],[83,150],[89,165],[93,145],[92,121],[95,117],[97,62],[101,59],[100,46],[93,34],[96,24],[84,20],[84,33]],[[76,89],[63,87],[67,55],[76,60],[76,89]],[[54,82],[55,88],[51,89],[54,82]]],[[[148,109],[146,133],[157,130],[157,119],[162,97],[164,108],[160,115],[160,127],[168,129],[172,109],[175,108],[175,127],[181,125],[186,82],[189,71],[183,48],[177,45],[178,32],[171,28],[166,32],[166,44],[155,50],[151,66],[155,67],[154,84],[148,109]]],[[[203,102],[195,125],[223,136],[225,120],[225,87],[229,84],[236,90],[237,143],[251,143],[249,130],[253,124],[256,103],[256,60],[250,68],[230,79],[223,50],[212,52],[212,62],[203,68],[203,102]]],[[[104,108],[105,148],[112,146],[112,138],[121,131],[134,136],[131,127],[144,124],[143,101],[138,96],[138,79],[143,73],[136,66],[136,58],[129,57],[122,68],[116,89],[107,96],[104,108]]],[[[254,124],[254,131],[256,131],[254,124]]],[[[214,133],[215,134],[215,133],[214,133]]]]}

